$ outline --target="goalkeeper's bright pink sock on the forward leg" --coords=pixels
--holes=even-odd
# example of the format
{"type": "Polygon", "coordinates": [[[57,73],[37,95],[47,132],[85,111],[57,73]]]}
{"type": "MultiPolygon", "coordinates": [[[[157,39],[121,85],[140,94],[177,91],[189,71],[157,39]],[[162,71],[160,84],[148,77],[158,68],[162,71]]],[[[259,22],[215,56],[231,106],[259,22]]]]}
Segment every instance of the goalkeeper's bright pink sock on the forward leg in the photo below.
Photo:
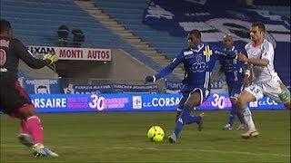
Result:
{"type": "Polygon", "coordinates": [[[44,129],[41,124],[41,120],[34,115],[29,117],[27,120],[27,129],[29,130],[30,135],[32,135],[35,144],[43,143],[44,138],[44,129]]]}

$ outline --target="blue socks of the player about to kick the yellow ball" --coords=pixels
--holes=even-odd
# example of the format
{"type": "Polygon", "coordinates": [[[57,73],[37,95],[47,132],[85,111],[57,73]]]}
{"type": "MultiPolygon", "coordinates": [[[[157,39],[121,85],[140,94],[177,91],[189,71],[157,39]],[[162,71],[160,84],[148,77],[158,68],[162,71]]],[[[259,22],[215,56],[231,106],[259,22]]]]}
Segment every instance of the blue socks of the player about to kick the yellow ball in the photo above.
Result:
{"type": "Polygon", "coordinates": [[[201,117],[191,115],[191,110],[191,107],[184,105],[183,110],[176,121],[176,127],[174,129],[176,137],[178,137],[185,124],[198,123],[200,121],[201,117]]]}

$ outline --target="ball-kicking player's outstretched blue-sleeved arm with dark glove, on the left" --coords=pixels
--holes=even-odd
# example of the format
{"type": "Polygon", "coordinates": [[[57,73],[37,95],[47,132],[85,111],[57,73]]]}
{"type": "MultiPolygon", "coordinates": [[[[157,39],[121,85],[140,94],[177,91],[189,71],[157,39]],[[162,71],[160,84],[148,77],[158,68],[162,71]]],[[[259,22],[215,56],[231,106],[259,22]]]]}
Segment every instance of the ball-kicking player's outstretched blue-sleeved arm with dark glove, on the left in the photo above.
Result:
{"type": "Polygon", "coordinates": [[[176,66],[178,66],[181,62],[184,60],[184,51],[179,53],[176,58],[167,65],[161,72],[156,73],[156,75],[153,76],[146,76],[146,82],[156,82],[157,80],[165,77],[170,72],[173,72],[176,66]]]}

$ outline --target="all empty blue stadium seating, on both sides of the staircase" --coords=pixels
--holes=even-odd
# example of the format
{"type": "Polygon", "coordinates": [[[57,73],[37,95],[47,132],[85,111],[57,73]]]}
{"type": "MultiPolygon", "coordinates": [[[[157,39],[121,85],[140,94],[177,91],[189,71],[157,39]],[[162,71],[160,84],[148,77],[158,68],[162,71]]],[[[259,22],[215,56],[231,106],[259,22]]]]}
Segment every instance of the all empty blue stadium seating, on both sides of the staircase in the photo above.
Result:
{"type": "MultiPolygon", "coordinates": [[[[102,9],[110,18],[114,18],[118,23],[123,24],[125,28],[136,36],[140,37],[144,42],[154,47],[157,52],[166,55],[167,59],[173,59],[182,47],[186,47],[186,39],[183,37],[175,37],[166,31],[157,31],[148,25],[143,24],[142,18],[145,9],[150,2],[143,0],[136,3],[134,0],[94,0],[97,8],[102,9]],[[122,8],[122,10],[121,10],[122,8]]],[[[153,58],[146,56],[131,45],[126,43],[120,36],[112,33],[105,27],[105,24],[96,22],[93,16],[87,14],[73,1],[64,0],[2,0],[5,10],[1,10],[1,15],[14,24],[15,36],[24,40],[27,44],[34,45],[57,45],[57,34],[55,33],[60,24],[67,23],[70,26],[80,26],[85,32],[85,43],[83,47],[98,48],[120,48],[126,53],[131,54],[141,62],[154,70],[160,70],[162,64],[158,64],[153,58]],[[34,10],[31,10],[34,8],[34,10]],[[30,10],[30,13],[26,11],[30,10]],[[58,17],[55,20],[55,17],[58,17]],[[33,24],[33,25],[32,25],[33,24]]],[[[286,8],[276,10],[285,11],[286,8]]],[[[72,36],[70,35],[70,40],[72,36]]],[[[276,61],[284,56],[276,55],[276,61]]],[[[162,59],[163,60],[163,59],[162,59]]],[[[282,67],[286,67],[284,65],[282,67]]],[[[290,81],[287,70],[278,72],[283,75],[284,81],[290,81]]],[[[176,76],[169,76],[168,79],[177,80],[176,76]]]]}

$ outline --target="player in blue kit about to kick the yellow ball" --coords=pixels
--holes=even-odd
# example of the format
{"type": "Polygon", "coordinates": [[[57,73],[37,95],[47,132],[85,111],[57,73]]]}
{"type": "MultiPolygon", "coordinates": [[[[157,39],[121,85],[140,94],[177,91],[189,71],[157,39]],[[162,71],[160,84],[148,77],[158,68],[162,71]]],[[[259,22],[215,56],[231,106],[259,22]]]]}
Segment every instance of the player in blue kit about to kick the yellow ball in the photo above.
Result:
{"type": "Polygon", "coordinates": [[[203,113],[195,116],[190,113],[194,107],[206,101],[210,93],[210,76],[218,56],[236,58],[233,51],[223,51],[216,47],[201,42],[201,33],[192,30],[187,36],[189,47],[177,54],[176,58],[161,72],[153,76],[146,76],[146,82],[156,82],[176,68],[180,63],[184,64],[185,77],[184,88],[181,90],[183,98],[177,110],[176,127],[169,142],[175,143],[180,131],[185,124],[197,123],[198,130],[202,129],[203,113]]]}

